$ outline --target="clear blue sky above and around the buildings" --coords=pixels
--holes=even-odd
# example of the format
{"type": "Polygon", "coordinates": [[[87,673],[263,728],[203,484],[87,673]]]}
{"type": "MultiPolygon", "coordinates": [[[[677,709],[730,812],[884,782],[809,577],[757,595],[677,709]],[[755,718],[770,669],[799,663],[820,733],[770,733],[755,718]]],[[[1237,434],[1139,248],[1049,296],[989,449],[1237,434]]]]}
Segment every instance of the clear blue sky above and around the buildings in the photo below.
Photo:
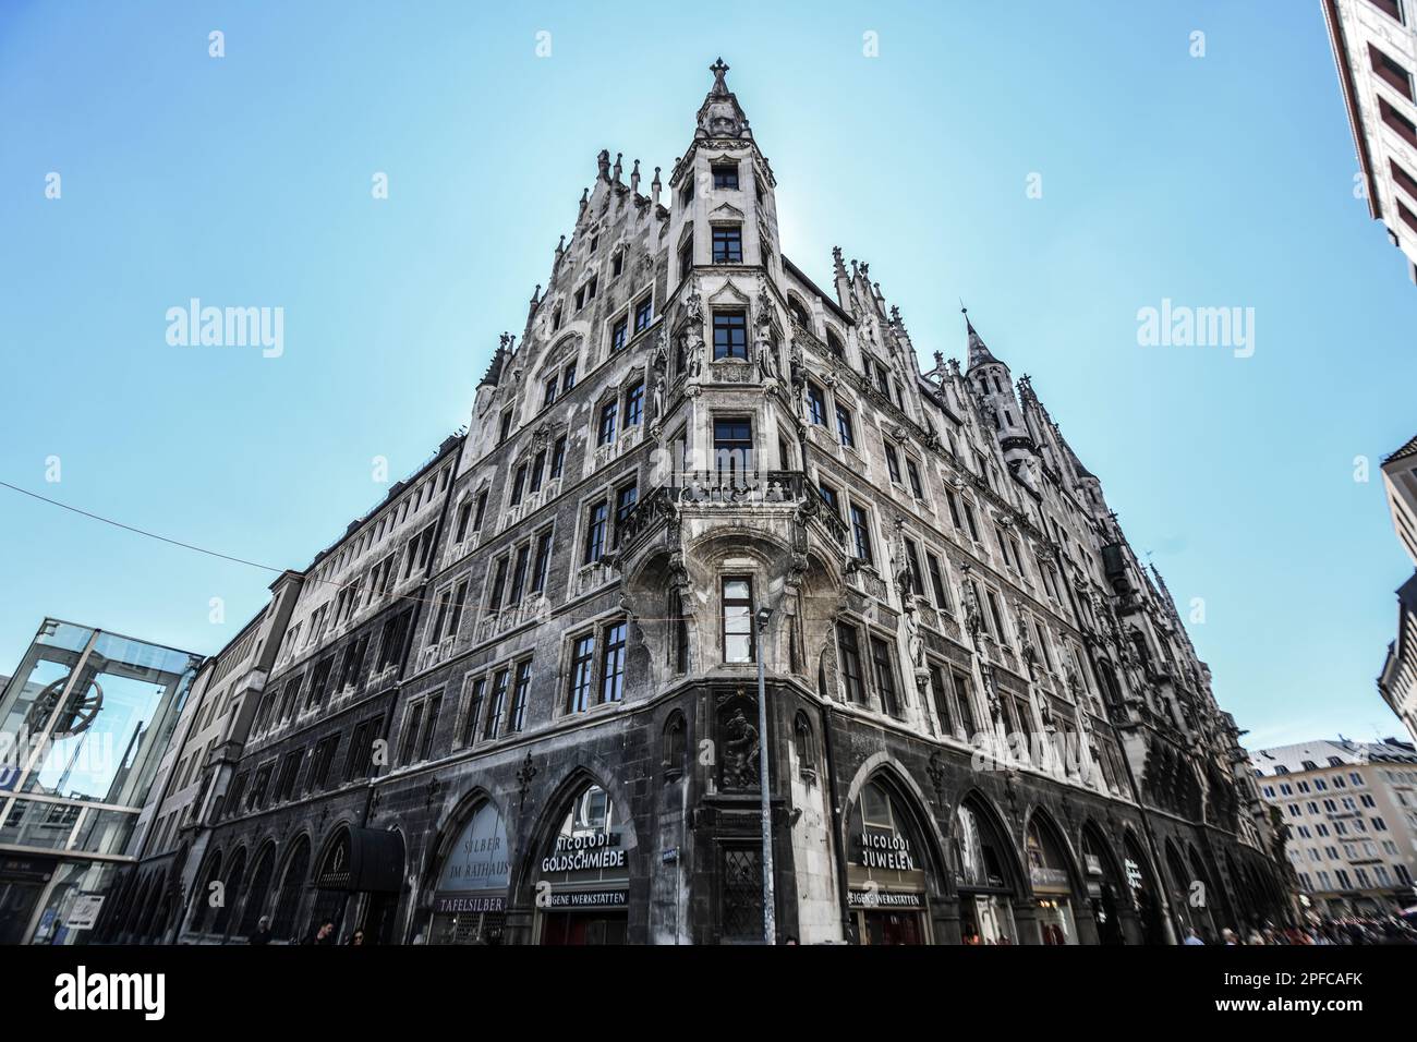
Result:
{"type": "MultiPolygon", "coordinates": [[[[924,359],[962,354],[965,299],[1204,598],[1247,741],[1399,729],[1377,464],[1417,425],[1417,288],[1353,197],[1318,3],[509,9],[4,4],[0,481],[303,567],[383,496],[373,456],[465,421],[595,153],[667,177],[723,54],[785,252],[870,261],[924,359]],[[283,308],[285,353],[169,346],[193,296],[283,308]],[[1254,356],[1138,346],[1163,298],[1254,308],[1254,356]]],[[[214,652],[273,578],[6,489],[0,540],[0,672],[47,614],[214,652]]]]}

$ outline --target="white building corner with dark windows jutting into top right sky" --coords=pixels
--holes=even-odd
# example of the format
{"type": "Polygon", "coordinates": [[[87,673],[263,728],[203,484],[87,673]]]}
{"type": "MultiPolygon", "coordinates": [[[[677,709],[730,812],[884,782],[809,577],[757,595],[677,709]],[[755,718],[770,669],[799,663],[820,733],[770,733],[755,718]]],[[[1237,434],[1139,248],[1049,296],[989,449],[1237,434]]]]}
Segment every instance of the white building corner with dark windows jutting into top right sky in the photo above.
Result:
{"type": "Polygon", "coordinates": [[[1417,30],[1411,0],[1322,0],[1348,123],[1355,183],[1417,282],[1417,30]]]}

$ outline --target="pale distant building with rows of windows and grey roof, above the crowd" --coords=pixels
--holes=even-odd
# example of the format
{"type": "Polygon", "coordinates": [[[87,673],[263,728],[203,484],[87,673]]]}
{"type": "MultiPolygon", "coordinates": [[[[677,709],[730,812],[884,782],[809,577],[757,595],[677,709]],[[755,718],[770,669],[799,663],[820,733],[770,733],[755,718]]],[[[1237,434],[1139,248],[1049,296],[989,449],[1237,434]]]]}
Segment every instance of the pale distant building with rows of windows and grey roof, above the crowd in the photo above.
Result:
{"type": "Polygon", "coordinates": [[[1417,749],[1318,740],[1261,749],[1250,763],[1315,914],[1386,916],[1417,900],[1417,749]]]}

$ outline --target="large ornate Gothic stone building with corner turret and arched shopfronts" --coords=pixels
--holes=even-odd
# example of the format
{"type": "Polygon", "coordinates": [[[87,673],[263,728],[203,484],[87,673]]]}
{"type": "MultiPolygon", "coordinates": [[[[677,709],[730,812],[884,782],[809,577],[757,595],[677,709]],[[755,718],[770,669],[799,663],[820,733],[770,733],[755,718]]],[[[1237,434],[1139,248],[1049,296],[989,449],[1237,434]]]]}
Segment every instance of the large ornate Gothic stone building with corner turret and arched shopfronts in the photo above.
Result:
{"type": "Polygon", "coordinates": [[[965,364],[921,373],[869,264],[835,251],[822,289],[788,259],[711,71],[648,194],[601,153],[466,437],[292,578],[183,919],[145,936],[761,943],[760,756],[779,940],[1288,914],[1236,724],[1100,481],[968,316],[965,364]]]}

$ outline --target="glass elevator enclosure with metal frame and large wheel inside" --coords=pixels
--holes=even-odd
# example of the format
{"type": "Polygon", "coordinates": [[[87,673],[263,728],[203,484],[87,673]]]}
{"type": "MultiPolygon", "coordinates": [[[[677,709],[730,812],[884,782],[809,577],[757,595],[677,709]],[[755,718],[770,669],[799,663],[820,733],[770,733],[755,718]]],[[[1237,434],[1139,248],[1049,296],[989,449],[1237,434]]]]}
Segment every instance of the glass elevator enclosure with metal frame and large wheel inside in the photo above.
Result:
{"type": "Polygon", "coordinates": [[[85,940],[200,663],[44,620],[0,696],[0,944],[85,940]]]}

